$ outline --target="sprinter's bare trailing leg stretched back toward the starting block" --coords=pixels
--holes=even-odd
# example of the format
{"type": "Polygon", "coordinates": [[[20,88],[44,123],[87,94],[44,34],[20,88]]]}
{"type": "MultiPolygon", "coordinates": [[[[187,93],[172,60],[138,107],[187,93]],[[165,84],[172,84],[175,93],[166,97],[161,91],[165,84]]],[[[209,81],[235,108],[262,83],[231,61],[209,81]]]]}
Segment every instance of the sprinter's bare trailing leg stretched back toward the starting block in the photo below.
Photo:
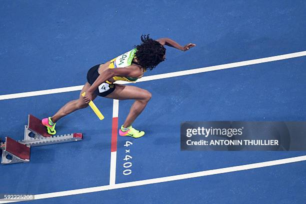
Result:
{"type": "MultiPolygon", "coordinates": [[[[79,93],[79,98],[76,100],[71,100],[67,102],[64,106],[62,106],[52,117],[51,120],[53,122],[56,122],[61,117],[81,108],[85,108],[88,106],[87,103],[84,102],[83,97],[81,96],[81,93],[86,91],[90,87],[90,84],[88,82],[85,83],[82,90],[79,93]]],[[[96,97],[96,95],[93,96],[93,99],[96,97]]]]}

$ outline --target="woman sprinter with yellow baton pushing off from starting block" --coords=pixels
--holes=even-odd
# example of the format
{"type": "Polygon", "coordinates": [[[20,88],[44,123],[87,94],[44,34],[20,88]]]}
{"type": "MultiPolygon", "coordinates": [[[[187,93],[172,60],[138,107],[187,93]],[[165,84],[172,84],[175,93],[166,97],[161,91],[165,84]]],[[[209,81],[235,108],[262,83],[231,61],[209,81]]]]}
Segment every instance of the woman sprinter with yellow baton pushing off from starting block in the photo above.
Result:
{"type": "Polygon", "coordinates": [[[131,126],[136,117],[144,109],[151,98],[151,93],[145,89],[132,85],[120,85],[113,83],[116,80],[135,82],[141,78],[146,70],[152,70],[157,64],[165,59],[164,45],[186,51],[195,46],[189,43],[179,45],[172,39],[160,38],[153,40],[149,35],[141,35],[142,43],[134,46],[134,49],[123,53],[104,64],[91,67],[87,72],[87,82],[83,86],[79,98],[71,100],[62,106],[52,117],[42,119],[49,134],[55,134],[55,123],[61,117],[88,106],[90,100],[97,95],[107,98],[125,100],[134,99],[129,113],[121,125],[119,134],[138,138],[144,135],[144,131],[136,130],[131,126]],[[86,92],[84,96],[81,93],[86,92]]]}

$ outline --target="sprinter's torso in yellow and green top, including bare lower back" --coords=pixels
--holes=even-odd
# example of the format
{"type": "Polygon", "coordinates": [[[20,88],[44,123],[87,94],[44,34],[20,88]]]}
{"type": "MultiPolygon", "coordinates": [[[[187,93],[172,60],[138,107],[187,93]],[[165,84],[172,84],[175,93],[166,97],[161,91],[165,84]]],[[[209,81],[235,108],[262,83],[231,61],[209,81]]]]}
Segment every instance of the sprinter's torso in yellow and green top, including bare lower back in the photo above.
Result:
{"type": "MultiPolygon", "coordinates": [[[[99,70],[98,72],[101,74],[104,70],[106,70],[107,68],[117,68],[117,67],[125,67],[125,68],[128,68],[128,66],[130,66],[132,63],[135,63],[135,61],[133,61],[133,58],[135,56],[135,52],[136,52],[136,49],[132,49],[128,52],[125,52],[113,59],[111,59],[110,61],[107,61],[105,64],[101,64],[99,66],[99,70]]],[[[140,68],[140,66],[139,66],[140,68]]],[[[142,69],[142,75],[143,75],[143,68],[141,67],[142,69]]],[[[137,78],[134,78],[134,77],[128,77],[128,76],[114,76],[110,79],[108,79],[109,82],[114,82],[116,80],[123,80],[123,81],[129,81],[129,82],[135,82],[138,78],[142,77],[139,76],[137,78]]]]}

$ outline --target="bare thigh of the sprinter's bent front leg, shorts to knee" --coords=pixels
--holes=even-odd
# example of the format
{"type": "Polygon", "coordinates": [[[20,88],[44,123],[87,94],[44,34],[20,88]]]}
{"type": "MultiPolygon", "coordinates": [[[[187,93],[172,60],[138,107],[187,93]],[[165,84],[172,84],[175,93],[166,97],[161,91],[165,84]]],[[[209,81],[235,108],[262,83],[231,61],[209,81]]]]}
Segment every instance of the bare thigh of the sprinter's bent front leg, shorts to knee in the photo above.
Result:
{"type": "Polygon", "coordinates": [[[150,92],[132,85],[116,84],[114,91],[105,97],[125,100],[125,99],[143,99],[147,98],[150,92]]]}

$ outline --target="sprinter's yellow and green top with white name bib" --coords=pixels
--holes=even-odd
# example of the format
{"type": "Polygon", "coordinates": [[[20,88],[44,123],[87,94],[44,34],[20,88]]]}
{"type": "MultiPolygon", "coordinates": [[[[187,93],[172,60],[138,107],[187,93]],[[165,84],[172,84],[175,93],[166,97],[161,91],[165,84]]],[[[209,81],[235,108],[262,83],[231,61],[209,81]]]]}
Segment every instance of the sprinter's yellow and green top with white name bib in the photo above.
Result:
{"type": "MultiPolygon", "coordinates": [[[[111,59],[108,68],[129,66],[133,61],[135,53],[136,53],[136,48],[111,59]]],[[[138,79],[138,78],[128,77],[128,76],[113,76],[112,78],[114,80],[123,80],[123,81],[129,81],[133,83],[136,82],[136,80],[138,79]]]]}

